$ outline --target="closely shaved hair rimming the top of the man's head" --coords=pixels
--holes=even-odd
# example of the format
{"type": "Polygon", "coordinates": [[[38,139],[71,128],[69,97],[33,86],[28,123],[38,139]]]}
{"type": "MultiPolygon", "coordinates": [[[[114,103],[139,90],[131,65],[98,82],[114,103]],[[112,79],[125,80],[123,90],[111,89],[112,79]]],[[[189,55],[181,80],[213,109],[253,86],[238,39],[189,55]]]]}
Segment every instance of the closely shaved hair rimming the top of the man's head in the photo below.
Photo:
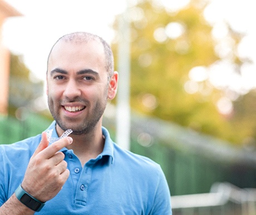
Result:
{"type": "Polygon", "coordinates": [[[105,68],[108,73],[108,79],[110,79],[112,74],[114,73],[114,57],[113,57],[113,53],[110,48],[110,45],[107,44],[107,42],[104,39],[102,39],[101,37],[99,37],[98,35],[91,34],[88,32],[70,33],[70,34],[63,35],[63,37],[58,39],[57,42],[53,45],[53,47],[50,51],[50,54],[48,55],[47,68],[48,68],[48,63],[49,63],[49,59],[51,57],[52,50],[58,42],[88,43],[90,41],[98,41],[102,44],[102,46],[104,48],[105,59],[106,59],[105,68]]]}

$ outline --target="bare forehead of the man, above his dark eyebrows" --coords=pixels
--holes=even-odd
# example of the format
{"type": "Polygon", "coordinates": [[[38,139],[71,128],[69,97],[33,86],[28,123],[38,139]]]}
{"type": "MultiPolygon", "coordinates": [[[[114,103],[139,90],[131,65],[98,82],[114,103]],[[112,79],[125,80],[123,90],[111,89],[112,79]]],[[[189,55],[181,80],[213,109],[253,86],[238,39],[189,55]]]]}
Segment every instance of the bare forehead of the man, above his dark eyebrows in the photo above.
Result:
{"type": "Polygon", "coordinates": [[[104,47],[98,40],[87,42],[60,40],[52,48],[48,59],[51,66],[105,66],[104,47]]]}

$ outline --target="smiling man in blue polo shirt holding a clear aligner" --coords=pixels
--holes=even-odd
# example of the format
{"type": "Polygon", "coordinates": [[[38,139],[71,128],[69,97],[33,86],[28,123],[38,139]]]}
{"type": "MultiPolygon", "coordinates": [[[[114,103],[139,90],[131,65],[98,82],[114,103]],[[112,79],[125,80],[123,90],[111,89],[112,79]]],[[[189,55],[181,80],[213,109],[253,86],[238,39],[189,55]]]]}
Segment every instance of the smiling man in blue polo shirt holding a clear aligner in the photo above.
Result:
{"type": "Polygon", "coordinates": [[[46,132],[0,146],[0,214],[171,214],[160,166],[120,149],[102,127],[118,74],[109,45],[76,32],[60,38],[47,65],[46,132]],[[39,212],[40,211],[40,212],[39,212]]]}

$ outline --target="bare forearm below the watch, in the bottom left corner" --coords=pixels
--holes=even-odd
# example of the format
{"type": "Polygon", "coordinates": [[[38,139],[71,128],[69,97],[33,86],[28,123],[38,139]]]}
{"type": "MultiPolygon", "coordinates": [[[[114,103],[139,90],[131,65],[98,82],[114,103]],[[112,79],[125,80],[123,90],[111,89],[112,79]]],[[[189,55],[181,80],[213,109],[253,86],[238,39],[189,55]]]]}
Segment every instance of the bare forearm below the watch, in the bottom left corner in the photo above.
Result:
{"type": "Polygon", "coordinates": [[[0,207],[1,215],[32,215],[34,213],[35,211],[32,211],[32,209],[29,209],[27,206],[22,204],[15,194],[13,194],[11,198],[9,198],[7,202],[0,207]]]}

